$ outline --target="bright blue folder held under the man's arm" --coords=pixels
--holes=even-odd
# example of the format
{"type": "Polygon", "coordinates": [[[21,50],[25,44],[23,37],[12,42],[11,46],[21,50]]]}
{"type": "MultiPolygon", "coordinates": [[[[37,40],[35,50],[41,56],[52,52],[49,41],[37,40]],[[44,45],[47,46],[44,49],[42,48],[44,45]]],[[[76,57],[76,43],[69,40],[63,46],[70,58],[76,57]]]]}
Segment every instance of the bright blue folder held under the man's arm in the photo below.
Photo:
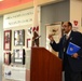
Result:
{"type": "Polygon", "coordinates": [[[77,53],[81,48],[74,43],[69,42],[68,49],[67,49],[67,54],[72,55],[77,53]]]}

